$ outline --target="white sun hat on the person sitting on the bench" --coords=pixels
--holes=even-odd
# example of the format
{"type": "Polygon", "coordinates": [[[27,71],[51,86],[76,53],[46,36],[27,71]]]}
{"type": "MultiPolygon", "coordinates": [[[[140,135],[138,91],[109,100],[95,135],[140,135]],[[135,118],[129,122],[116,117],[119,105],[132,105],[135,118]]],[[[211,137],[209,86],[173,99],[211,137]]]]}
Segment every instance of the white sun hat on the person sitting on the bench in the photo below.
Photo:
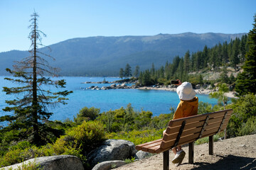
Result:
{"type": "Polygon", "coordinates": [[[196,91],[194,91],[192,84],[187,81],[178,86],[176,91],[178,97],[183,101],[190,101],[196,96],[196,91]]]}

